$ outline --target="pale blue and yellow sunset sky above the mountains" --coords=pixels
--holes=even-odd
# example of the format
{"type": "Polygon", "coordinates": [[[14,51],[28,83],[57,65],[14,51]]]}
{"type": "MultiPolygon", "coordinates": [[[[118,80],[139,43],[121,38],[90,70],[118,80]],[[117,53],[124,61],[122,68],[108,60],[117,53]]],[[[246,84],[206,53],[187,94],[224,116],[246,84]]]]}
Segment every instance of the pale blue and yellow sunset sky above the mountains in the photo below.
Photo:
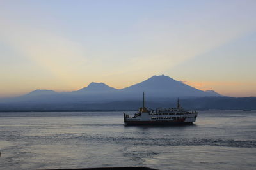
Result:
{"type": "Polygon", "coordinates": [[[0,0],[0,97],[164,74],[256,96],[256,1],[0,0]]]}

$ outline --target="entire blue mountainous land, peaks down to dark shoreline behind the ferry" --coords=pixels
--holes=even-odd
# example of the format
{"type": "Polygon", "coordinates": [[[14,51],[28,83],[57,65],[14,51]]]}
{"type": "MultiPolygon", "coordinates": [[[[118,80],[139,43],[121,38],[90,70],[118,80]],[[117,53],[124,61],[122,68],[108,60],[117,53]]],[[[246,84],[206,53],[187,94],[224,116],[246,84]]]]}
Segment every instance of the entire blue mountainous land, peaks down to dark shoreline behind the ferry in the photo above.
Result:
{"type": "Polygon", "coordinates": [[[178,97],[188,109],[256,108],[256,97],[223,97],[213,90],[204,92],[162,75],[152,76],[124,89],[115,89],[104,83],[90,83],[73,92],[35,90],[24,96],[1,99],[0,111],[134,110],[141,105],[142,92],[145,92],[147,106],[152,108],[175,106],[178,97]]]}

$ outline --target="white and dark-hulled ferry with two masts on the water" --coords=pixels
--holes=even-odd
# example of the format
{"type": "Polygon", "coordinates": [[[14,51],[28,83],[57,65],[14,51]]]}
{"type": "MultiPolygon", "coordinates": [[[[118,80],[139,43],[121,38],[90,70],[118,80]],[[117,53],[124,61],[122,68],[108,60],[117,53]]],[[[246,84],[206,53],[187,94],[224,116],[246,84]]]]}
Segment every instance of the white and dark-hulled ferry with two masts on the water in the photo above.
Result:
{"type": "Polygon", "coordinates": [[[124,113],[125,125],[183,125],[193,124],[198,115],[197,111],[184,111],[180,106],[179,99],[177,108],[158,108],[156,111],[145,107],[145,96],[143,92],[143,107],[139,108],[138,113],[129,117],[124,113]]]}

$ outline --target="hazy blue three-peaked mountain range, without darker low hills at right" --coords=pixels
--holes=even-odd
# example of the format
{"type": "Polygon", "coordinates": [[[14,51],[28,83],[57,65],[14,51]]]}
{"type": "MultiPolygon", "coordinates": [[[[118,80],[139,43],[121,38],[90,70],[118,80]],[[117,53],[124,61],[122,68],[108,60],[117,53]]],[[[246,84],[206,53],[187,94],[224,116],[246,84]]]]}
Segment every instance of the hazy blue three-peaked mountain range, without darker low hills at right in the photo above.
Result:
{"type": "MultiPolygon", "coordinates": [[[[54,110],[57,108],[60,110],[72,108],[72,110],[76,110],[76,108],[83,108],[83,110],[88,110],[93,107],[100,107],[100,104],[103,103],[105,105],[102,105],[102,107],[111,108],[113,104],[140,104],[143,92],[145,92],[146,101],[154,103],[152,106],[170,103],[170,101],[175,101],[178,97],[180,99],[221,97],[220,94],[213,90],[204,92],[168,76],[161,75],[152,76],[141,83],[125,87],[124,89],[115,89],[104,83],[92,82],[87,87],[72,92],[35,90],[20,97],[2,99],[0,101],[0,108],[17,108],[17,110],[19,108],[26,108],[26,110],[31,108],[40,108],[40,110],[50,110],[49,108],[54,110]],[[107,106],[108,104],[106,103],[110,105],[107,106]]],[[[124,108],[121,105],[118,107],[124,108]]]]}

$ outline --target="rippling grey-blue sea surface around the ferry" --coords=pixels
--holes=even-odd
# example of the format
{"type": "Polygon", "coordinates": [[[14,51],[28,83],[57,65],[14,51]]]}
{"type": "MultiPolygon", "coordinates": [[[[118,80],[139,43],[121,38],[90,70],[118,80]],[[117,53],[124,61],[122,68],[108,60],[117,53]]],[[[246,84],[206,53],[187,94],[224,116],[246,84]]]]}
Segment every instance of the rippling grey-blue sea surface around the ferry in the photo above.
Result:
{"type": "Polygon", "coordinates": [[[0,113],[0,150],[0,169],[255,169],[256,111],[199,111],[181,127],[124,127],[122,112],[0,113]]]}

